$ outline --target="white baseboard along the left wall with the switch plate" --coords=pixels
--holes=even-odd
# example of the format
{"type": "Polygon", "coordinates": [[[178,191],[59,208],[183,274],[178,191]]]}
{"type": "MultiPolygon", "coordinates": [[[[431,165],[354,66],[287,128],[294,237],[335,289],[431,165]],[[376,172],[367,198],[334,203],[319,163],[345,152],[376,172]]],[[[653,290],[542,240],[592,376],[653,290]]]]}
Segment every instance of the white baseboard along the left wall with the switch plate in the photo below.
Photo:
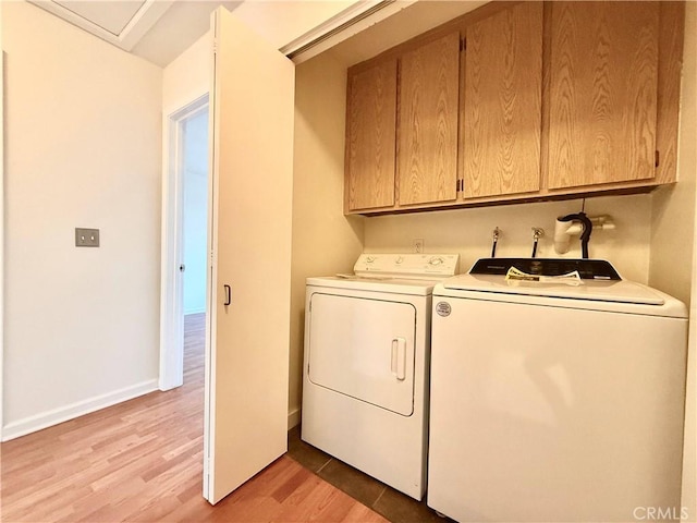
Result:
{"type": "Polygon", "coordinates": [[[158,390],[157,379],[150,379],[140,384],[124,387],[106,394],[96,396],[88,400],[78,401],[70,405],[60,406],[51,411],[35,414],[2,427],[2,441],[9,441],[20,436],[25,436],[42,428],[58,425],[59,423],[84,416],[90,412],[115,405],[123,401],[132,400],[143,394],[158,390]]]}

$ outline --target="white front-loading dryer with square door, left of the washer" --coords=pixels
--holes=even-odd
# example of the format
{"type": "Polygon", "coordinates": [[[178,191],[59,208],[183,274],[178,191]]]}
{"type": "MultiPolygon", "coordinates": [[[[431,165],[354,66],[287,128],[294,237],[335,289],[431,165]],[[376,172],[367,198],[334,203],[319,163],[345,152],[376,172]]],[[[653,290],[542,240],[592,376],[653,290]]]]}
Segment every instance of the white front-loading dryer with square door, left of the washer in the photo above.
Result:
{"type": "Polygon", "coordinates": [[[431,291],[457,260],[364,254],[356,276],[307,279],[302,439],[419,500],[431,291]]]}

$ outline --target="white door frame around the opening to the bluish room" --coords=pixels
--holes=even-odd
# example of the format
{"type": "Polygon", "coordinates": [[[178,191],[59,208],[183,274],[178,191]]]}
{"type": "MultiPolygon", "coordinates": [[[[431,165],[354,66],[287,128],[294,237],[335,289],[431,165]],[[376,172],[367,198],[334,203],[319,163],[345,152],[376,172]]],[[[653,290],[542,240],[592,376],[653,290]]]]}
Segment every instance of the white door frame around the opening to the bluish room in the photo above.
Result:
{"type": "Polygon", "coordinates": [[[162,230],[160,256],[160,373],[158,387],[169,390],[184,382],[184,121],[208,110],[209,93],[198,93],[171,110],[162,122],[162,230]]]}

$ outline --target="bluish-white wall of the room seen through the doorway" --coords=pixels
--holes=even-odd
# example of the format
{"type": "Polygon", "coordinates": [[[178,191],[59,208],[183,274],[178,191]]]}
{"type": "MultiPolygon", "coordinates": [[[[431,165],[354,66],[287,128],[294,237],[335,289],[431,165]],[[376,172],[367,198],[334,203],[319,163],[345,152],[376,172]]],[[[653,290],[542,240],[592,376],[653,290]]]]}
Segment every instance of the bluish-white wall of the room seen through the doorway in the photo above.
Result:
{"type": "Polygon", "coordinates": [[[208,109],[184,122],[184,314],[206,311],[208,109]]]}

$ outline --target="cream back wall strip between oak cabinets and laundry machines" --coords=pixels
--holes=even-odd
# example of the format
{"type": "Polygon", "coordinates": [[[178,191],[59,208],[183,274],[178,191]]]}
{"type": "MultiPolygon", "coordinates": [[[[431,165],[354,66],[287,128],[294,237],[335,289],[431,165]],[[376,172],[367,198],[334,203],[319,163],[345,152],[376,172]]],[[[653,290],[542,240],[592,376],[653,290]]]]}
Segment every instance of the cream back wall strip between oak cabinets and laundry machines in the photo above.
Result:
{"type": "MultiPolygon", "coordinates": [[[[502,230],[497,246],[498,257],[530,256],[534,227],[545,230],[539,241],[538,257],[560,257],[554,252],[554,222],[559,216],[577,212],[580,199],[516,204],[475,209],[453,209],[420,214],[380,216],[366,219],[367,252],[412,251],[414,239],[424,239],[427,253],[460,254],[460,271],[491,254],[491,235],[496,227],[502,230]]],[[[609,215],[616,229],[595,230],[590,236],[589,255],[612,262],[620,273],[646,283],[649,267],[651,200],[648,195],[598,197],[586,200],[588,216],[609,215]]],[[[580,257],[578,239],[564,257],[580,257]]]]}

